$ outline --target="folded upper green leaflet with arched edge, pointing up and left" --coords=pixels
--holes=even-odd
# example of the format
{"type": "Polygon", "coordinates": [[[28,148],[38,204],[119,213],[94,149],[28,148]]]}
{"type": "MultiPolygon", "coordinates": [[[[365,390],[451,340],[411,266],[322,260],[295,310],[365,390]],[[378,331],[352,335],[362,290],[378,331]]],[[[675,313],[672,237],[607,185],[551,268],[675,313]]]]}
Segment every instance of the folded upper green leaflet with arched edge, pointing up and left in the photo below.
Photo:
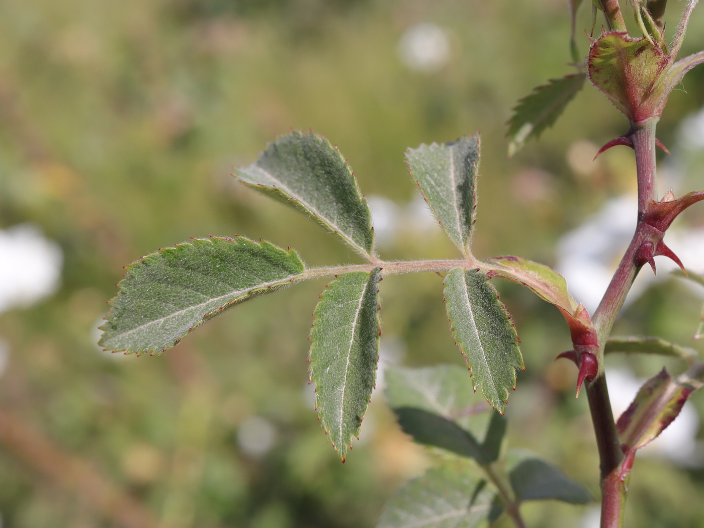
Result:
{"type": "Polygon", "coordinates": [[[279,137],[255,163],[237,170],[237,178],[312,215],[352,249],[372,258],[369,205],[346,160],[324,137],[301,132],[279,137]]]}

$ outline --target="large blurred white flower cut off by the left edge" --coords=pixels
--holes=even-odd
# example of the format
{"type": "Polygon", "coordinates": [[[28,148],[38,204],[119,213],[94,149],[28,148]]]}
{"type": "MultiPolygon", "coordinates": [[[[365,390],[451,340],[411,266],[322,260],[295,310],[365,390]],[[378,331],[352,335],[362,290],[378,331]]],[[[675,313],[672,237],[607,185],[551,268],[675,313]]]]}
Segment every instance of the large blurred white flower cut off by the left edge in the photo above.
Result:
{"type": "Polygon", "coordinates": [[[61,279],[63,254],[34,225],[0,230],[0,312],[54,293],[61,279]]]}

